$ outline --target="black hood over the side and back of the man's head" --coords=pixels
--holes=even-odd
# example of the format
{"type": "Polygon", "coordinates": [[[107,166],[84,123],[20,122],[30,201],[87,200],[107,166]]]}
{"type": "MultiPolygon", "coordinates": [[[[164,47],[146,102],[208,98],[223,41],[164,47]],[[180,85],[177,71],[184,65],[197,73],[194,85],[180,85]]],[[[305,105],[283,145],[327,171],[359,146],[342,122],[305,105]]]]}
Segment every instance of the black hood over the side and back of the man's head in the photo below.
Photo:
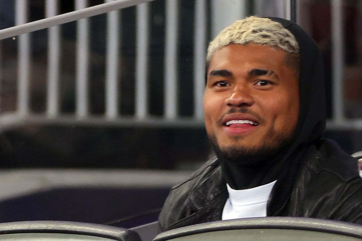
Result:
{"type": "Polygon", "coordinates": [[[322,56],[314,40],[298,25],[282,18],[269,17],[288,29],[299,44],[299,117],[291,152],[300,145],[320,139],[325,131],[326,106],[322,56]]]}

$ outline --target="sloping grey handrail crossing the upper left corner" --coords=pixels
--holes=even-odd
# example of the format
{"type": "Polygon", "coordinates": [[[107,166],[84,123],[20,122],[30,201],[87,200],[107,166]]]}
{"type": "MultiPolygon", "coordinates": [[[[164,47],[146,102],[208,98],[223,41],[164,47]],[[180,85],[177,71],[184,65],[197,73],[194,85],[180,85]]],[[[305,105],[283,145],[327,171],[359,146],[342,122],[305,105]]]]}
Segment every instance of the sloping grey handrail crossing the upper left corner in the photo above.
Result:
{"type": "Polygon", "coordinates": [[[20,34],[30,33],[40,29],[46,29],[63,23],[88,18],[113,10],[131,7],[137,4],[146,3],[153,0],[115,0],[111,3],[102,3],[93,7],[76,10],[70,13],[60,14],[54,17],[43,18],[41,20],[25,23],[22,25],[8,27],[0,30],[0,40],[10,38],[20,34]]]}

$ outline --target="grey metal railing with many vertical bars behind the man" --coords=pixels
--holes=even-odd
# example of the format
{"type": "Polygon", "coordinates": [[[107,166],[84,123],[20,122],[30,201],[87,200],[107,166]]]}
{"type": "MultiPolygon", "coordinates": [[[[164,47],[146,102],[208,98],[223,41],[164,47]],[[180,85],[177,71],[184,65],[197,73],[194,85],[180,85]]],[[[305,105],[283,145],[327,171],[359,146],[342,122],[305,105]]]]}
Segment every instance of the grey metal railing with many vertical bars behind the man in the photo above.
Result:
{"type": "MultiPolygon", "coordinates": [[[[148,66],[151,0],[105,0],[104,4],[86,8],[87,0],[75,0],[76,10],[58,14],[57,0],[46,0],[46,18],[30,23],[28,21],[27,0],[16,0],[16,26],[0,30],[0,39],[19,35],[18,38],[18,98],[17,111],[1,113],[1,129],[26,123],[66,124],[66,125],[110,125],[110,126],[183,126],[202,127],[202,94],[204,88],[206,52],[206,0],[195,0],[194,7],[194,113],[191,117],[178,115],[177,96],[177,47],[179,0],[165,1],[165,55],[164,55],[164,115],[151,116],[148,106],[148,66]],[[136,5],[136,63],[135,63],[135,115],[122,116],[119,113],[118,91],[120,12],[118,9],[136,5]],[[89,17],[107,14],[107,47],[105,71],[105,114],[94,116],[89,113],[89,17]],[[74,115],[65,115],[59,108],[59,59],[60,24],[77,21],[76,36],[76,108],[74,115]],[[45,114],[34,114],[29,110],[30,32],[49,28],[47,66],[47,105],[45,114]]],[[[286,18],[295,17],[295,1],[283,0],[286,18]]],[[[333,118],[327,122],[330,129],[362,130],[362,119],[346,119],[342,96],[343,43],[341,1],[332,4],[333,35],[333,118]]],[[[298,11],[297,11],[298,12],[298,11]]]]}

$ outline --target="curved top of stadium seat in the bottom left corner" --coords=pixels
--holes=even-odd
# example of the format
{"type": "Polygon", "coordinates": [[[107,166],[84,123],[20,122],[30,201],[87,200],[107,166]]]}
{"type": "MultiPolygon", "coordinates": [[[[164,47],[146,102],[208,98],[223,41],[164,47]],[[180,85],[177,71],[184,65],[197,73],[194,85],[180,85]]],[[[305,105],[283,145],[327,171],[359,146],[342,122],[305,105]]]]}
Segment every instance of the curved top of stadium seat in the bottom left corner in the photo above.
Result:
{"type": "Polygon", "coordinates": [[[70,221],[19,221],[0,223],[0,240],[141,241],[139,235],[129,229],[70,221]]]}

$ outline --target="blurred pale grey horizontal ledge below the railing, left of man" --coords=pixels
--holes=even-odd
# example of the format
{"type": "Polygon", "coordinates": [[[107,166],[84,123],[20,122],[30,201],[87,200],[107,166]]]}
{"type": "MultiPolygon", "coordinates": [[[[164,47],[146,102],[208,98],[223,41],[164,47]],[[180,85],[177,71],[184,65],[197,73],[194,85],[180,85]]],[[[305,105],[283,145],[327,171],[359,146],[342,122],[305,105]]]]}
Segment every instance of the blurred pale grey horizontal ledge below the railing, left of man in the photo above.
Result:
{"type": "Polygon", "coordinates": [[[68,188],[171,188],[191,175],[188,170],[118,168],[2,169],[0,201],[51,189],[68,188]],[[11,181],[9,181],[11,180],[11,181]],[[41,180],[41,181],[39,181],[41,180]]]}

